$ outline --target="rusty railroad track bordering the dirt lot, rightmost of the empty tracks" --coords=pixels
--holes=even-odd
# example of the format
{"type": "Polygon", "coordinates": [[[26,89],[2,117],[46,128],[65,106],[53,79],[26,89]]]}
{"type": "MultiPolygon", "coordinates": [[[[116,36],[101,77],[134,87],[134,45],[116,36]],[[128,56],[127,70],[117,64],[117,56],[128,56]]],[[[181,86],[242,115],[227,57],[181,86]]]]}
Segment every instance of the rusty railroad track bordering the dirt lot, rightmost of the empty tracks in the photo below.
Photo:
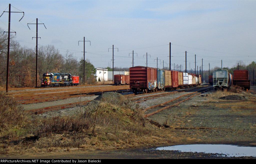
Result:
{"type": "MultiPolygon", "coordinates": [[[[198,89],[198,88],[196,88],[196,89],[198,89]]],[[[204,92],[206,92],[208,90],[211,90],[211,89],[212,89],[212,86],[207,86],[207,87],[199,89],[198,91],[178,96],[178,97],[176,97],[172,100],[166,101],[164,103],[157,104],[157,105],[154,105],[154,106],[150,106],[150,107],[145,109],[145,112],[147,114],[145,114],[143,117],[148,117],[148,116],[151,116],[151,115],[156,114],[158,112],[161,112],[164,109],[167,109],[167,108],[173,107],[175,105],[178,105],[179,103],[182,103],[182,102],[190,99],[193,96],[199,95],[199,94],[204,93],[204,92]]]]}

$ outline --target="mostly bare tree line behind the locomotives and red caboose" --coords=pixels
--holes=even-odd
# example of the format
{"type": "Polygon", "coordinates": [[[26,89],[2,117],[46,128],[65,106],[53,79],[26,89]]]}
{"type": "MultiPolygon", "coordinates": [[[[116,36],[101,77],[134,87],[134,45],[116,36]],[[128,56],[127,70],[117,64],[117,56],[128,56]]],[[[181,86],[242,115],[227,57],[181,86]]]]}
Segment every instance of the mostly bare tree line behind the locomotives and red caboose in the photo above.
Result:
{"type": "MultiPolygon", "coordinates": [[[[0,27],[0,85],[6,85],[7,72],[7,49],[8,34],[4,33],[0,27]]],[[[96,69],[88,59],[85,61],[85,83],[95,83],[94,74],[96,69]]],[[[68,50],[61,54],[53,45],[38,46],[37,58],[37,75],[36,75],[36,48],[21,47],[19,42],[15,40],[15,36],[10,37],[10,53],[9,53],[9,74],[8,85],[12,87],[34,87],[41,86],[42,74],[70,73],[77,75],[80,84],[83,78],[83,59],[77,60],[73,53],[68,50]]]]}

